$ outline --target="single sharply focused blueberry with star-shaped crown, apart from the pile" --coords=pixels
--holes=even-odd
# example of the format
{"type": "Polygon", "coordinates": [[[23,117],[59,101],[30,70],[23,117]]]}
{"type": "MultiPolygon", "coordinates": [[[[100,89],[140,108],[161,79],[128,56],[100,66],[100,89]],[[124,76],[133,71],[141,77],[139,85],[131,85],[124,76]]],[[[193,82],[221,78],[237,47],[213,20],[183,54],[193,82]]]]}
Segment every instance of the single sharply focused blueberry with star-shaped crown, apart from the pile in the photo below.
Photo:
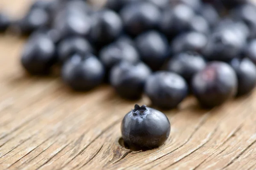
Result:
{"type": "Polygon", "coordinates": [[[122,120],[122,138],[130,147],[150,149],[169,137],[171,125],[166,115],[145,105],[135,105],[122,120]]]}

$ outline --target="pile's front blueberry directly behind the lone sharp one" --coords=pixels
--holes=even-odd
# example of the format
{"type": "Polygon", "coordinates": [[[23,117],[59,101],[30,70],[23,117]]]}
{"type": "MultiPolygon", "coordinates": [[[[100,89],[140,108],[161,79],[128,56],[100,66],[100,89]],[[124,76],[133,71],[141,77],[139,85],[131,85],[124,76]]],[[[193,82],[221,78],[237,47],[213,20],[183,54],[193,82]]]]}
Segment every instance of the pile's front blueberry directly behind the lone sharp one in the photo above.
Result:
{"type": "Polygon", "coordinates": [[[145,94],[153,105],[171,109],[177,107],[188,94],[188,85],[180,75],[167,71],[157,71],[148,77],[145,94]]]}

